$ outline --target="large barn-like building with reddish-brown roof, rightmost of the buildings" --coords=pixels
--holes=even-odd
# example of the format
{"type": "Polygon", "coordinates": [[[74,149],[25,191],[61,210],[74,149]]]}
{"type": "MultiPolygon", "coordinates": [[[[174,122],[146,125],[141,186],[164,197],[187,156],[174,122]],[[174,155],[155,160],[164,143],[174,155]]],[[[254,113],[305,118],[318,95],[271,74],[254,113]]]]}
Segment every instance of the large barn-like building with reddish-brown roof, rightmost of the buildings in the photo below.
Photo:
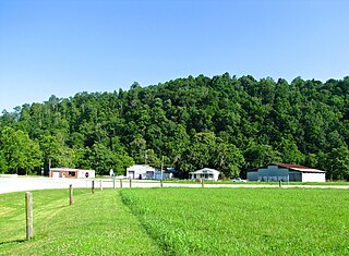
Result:
{"type": "Polygon", "coordinates": [[[325,171],[291,163],[270,163],[248,171],[249,181],[325,182],[325,171]]]}

